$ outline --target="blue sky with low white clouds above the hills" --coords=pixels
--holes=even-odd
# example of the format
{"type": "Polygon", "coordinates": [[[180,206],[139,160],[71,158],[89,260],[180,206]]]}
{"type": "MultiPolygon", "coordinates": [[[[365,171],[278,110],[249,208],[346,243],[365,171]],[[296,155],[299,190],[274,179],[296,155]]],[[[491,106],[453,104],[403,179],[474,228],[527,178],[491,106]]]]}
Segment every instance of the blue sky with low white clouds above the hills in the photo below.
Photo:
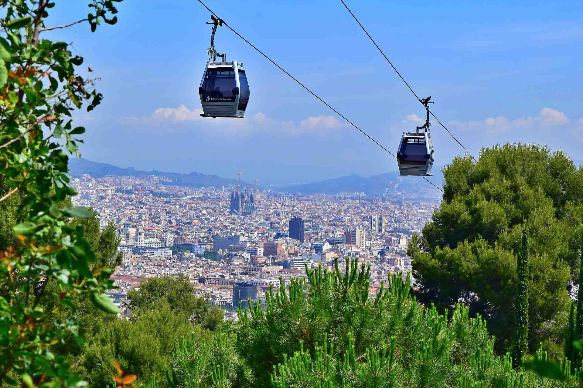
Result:
{"type": "MultiPolygon", "coordinates": [[[[85,17],[57,3],[47,26],[85,17]]],[[[103,104],[78,115],[83,156],[173,172],[292,183],[396,170],[395,159],[226,27],[215,45],[244,62],[247,119],[200,118],[209,12],[196,1],[125,0],[119,22],[47,34],[73,42],[101,77],[103,104]]],[[[212,1],[219,17],[388,149],[423,116],[340,1],[212,1]]],[[[432,111],[477,156],[535,141],[583,159],[581,2],[347,1],[432,111]]],[[[76,54],[76,53],[75,53],[76,54]]],[[[85,69],[85,66],[83,66],[85,69]]],[[[433,122],[436,165],[463,149],[433,122]]]]}

